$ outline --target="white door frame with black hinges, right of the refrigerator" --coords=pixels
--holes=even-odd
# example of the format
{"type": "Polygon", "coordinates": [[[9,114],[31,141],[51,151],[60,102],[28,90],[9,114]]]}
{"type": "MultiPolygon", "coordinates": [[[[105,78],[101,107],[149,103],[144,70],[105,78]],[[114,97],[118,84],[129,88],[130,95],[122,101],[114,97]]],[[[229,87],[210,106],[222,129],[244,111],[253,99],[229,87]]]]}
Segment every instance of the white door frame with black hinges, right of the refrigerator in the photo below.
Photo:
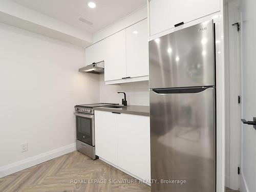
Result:
{"type": "Polygon", "coordinates": [[[233,190],[239,189],[238,167],[240,161],[240,132],[241,132],[241,31],[238,31],[237,22],[240,22],[240,3],[228,3],[226,32],[227,62],[226,67],[226,153],[225,177],[226,185],[233,190]],[[229,54],[228,54],[229,53],[229,54]]]}

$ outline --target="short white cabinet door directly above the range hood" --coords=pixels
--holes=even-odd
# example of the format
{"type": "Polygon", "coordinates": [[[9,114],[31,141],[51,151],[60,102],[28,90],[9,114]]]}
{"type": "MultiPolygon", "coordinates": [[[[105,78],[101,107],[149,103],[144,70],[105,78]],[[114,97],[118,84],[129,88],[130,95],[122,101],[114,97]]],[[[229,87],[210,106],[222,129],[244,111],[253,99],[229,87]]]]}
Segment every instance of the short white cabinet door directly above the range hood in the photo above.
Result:
{"type": "Polygon", "coordinates": [[[96,44],[86,48],[86,65],[91,65],[93,62],[99,62],[104,60],[104,42],[101,40],[96,44]]]}

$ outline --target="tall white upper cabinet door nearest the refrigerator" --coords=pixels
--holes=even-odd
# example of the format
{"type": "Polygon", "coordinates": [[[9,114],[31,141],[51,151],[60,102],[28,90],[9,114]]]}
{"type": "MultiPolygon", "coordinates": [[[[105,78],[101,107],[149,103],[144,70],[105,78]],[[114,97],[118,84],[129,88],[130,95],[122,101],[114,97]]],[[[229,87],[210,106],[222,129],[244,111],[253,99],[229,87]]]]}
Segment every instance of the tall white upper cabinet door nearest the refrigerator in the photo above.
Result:
{"type": "Polygon", "coordinates": [[[128,77],[148,76],[147,19],[126,29],[128,77]]]}

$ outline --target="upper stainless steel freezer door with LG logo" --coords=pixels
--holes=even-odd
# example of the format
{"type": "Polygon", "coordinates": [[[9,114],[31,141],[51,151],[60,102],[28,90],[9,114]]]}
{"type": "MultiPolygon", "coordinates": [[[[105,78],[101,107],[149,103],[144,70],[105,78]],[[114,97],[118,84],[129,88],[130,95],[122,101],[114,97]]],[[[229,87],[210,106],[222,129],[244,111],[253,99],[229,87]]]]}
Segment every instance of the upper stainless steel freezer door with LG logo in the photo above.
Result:
{"type": "Polygon", "coordinates": [[[215,86],[212,20],[149,42],[150,88],[215,86]]]}

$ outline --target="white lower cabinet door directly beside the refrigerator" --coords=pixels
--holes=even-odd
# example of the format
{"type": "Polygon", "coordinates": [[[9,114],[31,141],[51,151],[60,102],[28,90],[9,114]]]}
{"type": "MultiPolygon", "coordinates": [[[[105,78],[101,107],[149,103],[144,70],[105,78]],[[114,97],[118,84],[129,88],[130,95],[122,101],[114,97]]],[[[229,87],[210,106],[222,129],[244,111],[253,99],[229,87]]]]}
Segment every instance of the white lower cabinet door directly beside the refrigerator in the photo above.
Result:
{"type": "Polygon", "coordinates": [[[150,118],[119,114],[117,127],[118,166],[150,180],[150,118]]]}

